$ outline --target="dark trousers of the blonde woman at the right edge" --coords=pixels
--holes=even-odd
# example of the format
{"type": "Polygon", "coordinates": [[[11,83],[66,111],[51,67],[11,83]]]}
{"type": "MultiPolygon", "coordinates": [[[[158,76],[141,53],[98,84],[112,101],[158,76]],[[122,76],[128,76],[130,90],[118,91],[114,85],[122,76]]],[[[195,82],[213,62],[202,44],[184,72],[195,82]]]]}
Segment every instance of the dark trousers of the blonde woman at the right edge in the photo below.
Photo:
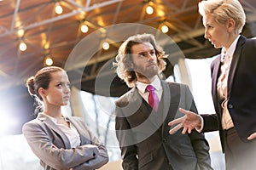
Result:
{"type": "Polygon", "coordinates": [[[256,170],[256,139],[242,142],[234,127],[225,131],[226,170],[256,170]]]}

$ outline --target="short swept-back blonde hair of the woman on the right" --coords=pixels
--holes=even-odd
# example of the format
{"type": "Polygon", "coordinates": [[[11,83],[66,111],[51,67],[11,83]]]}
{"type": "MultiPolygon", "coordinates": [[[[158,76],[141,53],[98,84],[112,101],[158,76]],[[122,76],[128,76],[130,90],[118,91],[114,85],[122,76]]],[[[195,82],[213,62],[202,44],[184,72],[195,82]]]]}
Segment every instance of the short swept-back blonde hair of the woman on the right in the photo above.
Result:
{"type": "Polygon", "coordinates": [[[213,14],[215,20],[220,25],[224,25],[228,20],[235,20],[235,33],[241,33],[246,22],[246,14],[238,0],[204,0],[198,3],[199,13],[213,14]]]}

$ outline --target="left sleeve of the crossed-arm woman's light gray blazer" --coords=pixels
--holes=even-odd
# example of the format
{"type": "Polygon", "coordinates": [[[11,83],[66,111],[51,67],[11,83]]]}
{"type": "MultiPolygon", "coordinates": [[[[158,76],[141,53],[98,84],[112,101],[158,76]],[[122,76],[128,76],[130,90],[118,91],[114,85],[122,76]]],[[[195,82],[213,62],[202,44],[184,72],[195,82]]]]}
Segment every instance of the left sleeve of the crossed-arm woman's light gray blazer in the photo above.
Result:
{"type": "Polygon", "coordinates": [[[84,144],[71,149],[65,149],[64,145],[58,148],[52,141],[58,139],[58,143],[63,143],[62,139],[50,133],[49,127],[38,120],[27,122],[22,128],[22,132],[43,166],[63,170],[70,169],[91,159],[96,159],[102,153],[102,150],[99,150],[94,144],[84,144]]]}

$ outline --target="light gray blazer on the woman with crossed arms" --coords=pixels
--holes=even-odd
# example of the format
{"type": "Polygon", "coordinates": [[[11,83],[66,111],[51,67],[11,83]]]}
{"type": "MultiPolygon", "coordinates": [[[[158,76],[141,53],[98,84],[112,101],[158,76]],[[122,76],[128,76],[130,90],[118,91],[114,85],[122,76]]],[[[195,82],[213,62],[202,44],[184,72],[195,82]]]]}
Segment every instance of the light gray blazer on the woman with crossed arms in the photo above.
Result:
{"type": "Polygon", "coordinates": [[[81,144],[71,148],[65,133],[42,113],[26,124],[22,132],[32,151],[47,170],[92,170],[108,162],[106,148],[90,133],[81,117],[67,117],[79,132],[81,144]]]}

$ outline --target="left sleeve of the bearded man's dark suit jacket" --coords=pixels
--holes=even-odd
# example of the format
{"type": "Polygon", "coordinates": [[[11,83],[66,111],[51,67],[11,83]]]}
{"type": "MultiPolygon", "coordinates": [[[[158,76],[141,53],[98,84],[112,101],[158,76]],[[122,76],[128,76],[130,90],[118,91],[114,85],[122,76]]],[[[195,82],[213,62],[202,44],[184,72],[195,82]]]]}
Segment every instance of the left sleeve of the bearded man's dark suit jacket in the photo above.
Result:
{"type": "Polygon", "coordinates": [[[115,119],[115,129],[116,136],[119,140],[119,147],[121,150],[122,156],[122,167],[124,170],[137,170],[138,169],[138,160],[137,160],[137,148],[134,144],[126,144],[129,141],[133,140],[131,133],[124,133],[122,130],[131,129],[129,122],[127,122],[123,111],[117,105],[116,110],[116,119],[115,119]],[[127,142],[128,141],[128,142],[127,142]]]}

